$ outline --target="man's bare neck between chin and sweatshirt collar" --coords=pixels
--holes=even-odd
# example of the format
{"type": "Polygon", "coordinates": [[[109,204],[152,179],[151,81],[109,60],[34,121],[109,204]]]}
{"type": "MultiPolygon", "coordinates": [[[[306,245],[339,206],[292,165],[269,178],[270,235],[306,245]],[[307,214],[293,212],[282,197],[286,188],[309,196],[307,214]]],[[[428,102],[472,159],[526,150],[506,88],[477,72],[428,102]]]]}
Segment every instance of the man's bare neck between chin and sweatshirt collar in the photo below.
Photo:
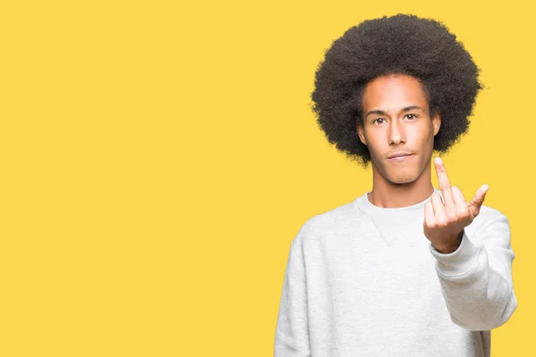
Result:
{"type": "Polygon", "coordinates": [[[431,185],[431,164],[424,168],[415,181],[407,184],[394,184],[383,178],[373,166],[373,190],[368,199],[373,205],[384,208],[400,208],[421,203],[433,194],[431,185]]]}

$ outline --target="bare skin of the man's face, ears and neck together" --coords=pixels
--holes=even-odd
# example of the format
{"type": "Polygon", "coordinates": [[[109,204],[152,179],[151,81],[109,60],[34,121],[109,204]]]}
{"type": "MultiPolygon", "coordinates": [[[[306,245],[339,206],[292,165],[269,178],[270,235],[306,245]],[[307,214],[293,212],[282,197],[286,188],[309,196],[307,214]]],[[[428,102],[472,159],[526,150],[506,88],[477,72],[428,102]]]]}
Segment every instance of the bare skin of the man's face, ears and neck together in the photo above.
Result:
{"type": "Polygon", "coordinates": [[[357,126],[357,135],[371,154],[371,203],[398,208],[430,197],[433,137],[441,120],[439,113],[430,117],[419,81],[402,74],[373,79],[364,89],[363,113],[364,125],[357,126]],[[421,109],[404,110],[414,106],[421,109]],[[413,155],[403,162],[387,158],[406,151],[413,155]]]}

